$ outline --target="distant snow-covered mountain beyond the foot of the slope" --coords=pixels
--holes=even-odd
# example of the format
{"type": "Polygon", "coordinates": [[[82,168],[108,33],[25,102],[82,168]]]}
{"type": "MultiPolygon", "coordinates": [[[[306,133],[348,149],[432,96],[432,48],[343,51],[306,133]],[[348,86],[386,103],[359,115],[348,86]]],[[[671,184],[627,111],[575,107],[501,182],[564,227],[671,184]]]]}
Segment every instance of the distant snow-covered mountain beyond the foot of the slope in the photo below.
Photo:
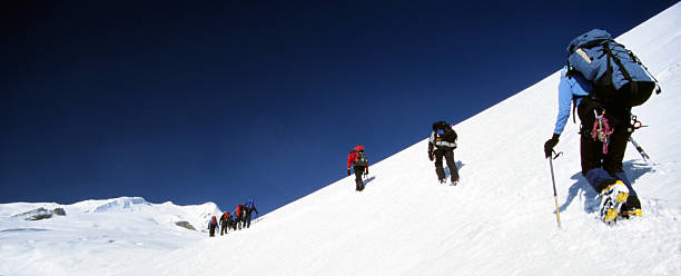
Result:
{"type": "Polygon", "coordinates": [[[220,213],[214,203],[177,206],[141,197],[2,204],[0,275],[110,275],[197,243],[220,213]],[[63,214],[50,215],[58,209],[63,214]],[[31,219],[36,215],[43,218],[31,219]]]}

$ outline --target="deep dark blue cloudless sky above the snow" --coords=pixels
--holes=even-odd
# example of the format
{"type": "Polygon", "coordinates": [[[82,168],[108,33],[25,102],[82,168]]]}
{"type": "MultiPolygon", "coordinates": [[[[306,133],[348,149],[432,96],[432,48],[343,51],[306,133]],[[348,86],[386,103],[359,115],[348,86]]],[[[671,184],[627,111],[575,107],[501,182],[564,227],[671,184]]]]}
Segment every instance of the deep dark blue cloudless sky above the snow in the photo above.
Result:
{"type": "Polygon", "coordinates": [[[354,145],[382,160],[675,1],[7,2],[0,203],[269,211],[345,177],[354,145]]]}

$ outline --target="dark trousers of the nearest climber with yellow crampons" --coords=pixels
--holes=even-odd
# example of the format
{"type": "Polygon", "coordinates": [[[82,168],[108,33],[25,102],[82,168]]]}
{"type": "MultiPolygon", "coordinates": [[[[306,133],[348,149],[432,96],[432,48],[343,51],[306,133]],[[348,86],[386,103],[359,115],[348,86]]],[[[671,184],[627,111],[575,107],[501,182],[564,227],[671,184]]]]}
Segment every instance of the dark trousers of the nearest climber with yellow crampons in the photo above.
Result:
{"type": "Polygon", "coordinates": [[[582,175],[599,194],[615,180],[622,180],[629,188],[629,198],[622,206],[622,210],[640,209],[641,201],[622,168],[626,142],[629,142],[631,136],[631,111],[629,108],[605,109],[605,118],[608,118],[609,125],[614,131],[610,136],[608,154],[603,154],[603,142],[594,140],[591,136],[595,122],[594,110],[600,111],[600,108],[598,103],[594,105],[589,99],[584,99],[578,108],[582,121],[582,137],[580,139],[582,175]]]}

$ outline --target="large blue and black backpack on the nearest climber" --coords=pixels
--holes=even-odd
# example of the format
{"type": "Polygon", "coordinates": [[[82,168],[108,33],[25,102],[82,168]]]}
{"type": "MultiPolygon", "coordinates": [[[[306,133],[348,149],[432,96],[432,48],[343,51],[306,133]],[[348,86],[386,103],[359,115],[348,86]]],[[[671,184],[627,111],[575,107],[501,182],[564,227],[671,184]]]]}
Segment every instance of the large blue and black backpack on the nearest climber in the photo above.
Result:
{"type": "Polygon", "coordinates": [[[658,82],[632,51],[600,29],[576,37],[568,46],[568,73],[575,72],[593,83],[598,100],[628,107],[645,102],[658,82]]]}

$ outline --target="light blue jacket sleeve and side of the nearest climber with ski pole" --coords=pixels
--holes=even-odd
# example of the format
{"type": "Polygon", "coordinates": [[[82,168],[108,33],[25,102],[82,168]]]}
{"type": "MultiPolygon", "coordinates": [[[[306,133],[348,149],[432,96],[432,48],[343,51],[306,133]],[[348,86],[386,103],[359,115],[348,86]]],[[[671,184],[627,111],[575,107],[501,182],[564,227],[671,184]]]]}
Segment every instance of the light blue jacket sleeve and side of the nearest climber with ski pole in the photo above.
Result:
{"type": "MultiPolygon", "coordinates": [[[[568,67],[563,67],[561,70],[561,82],[559,82],[559,115],[555,119],[555,128],[553,132],[560,135],[565,128],[568,119],[570,119],[570,108],[572,107],[572,99],[576,96],[589,96],[593,91],[591,82],[589,82],[582,75],[573,73],[571,77],[565,76],[568,73],[568,67]]],[[[576,106],[582,102],[582,98],[576,98],[576,106]]]]}

